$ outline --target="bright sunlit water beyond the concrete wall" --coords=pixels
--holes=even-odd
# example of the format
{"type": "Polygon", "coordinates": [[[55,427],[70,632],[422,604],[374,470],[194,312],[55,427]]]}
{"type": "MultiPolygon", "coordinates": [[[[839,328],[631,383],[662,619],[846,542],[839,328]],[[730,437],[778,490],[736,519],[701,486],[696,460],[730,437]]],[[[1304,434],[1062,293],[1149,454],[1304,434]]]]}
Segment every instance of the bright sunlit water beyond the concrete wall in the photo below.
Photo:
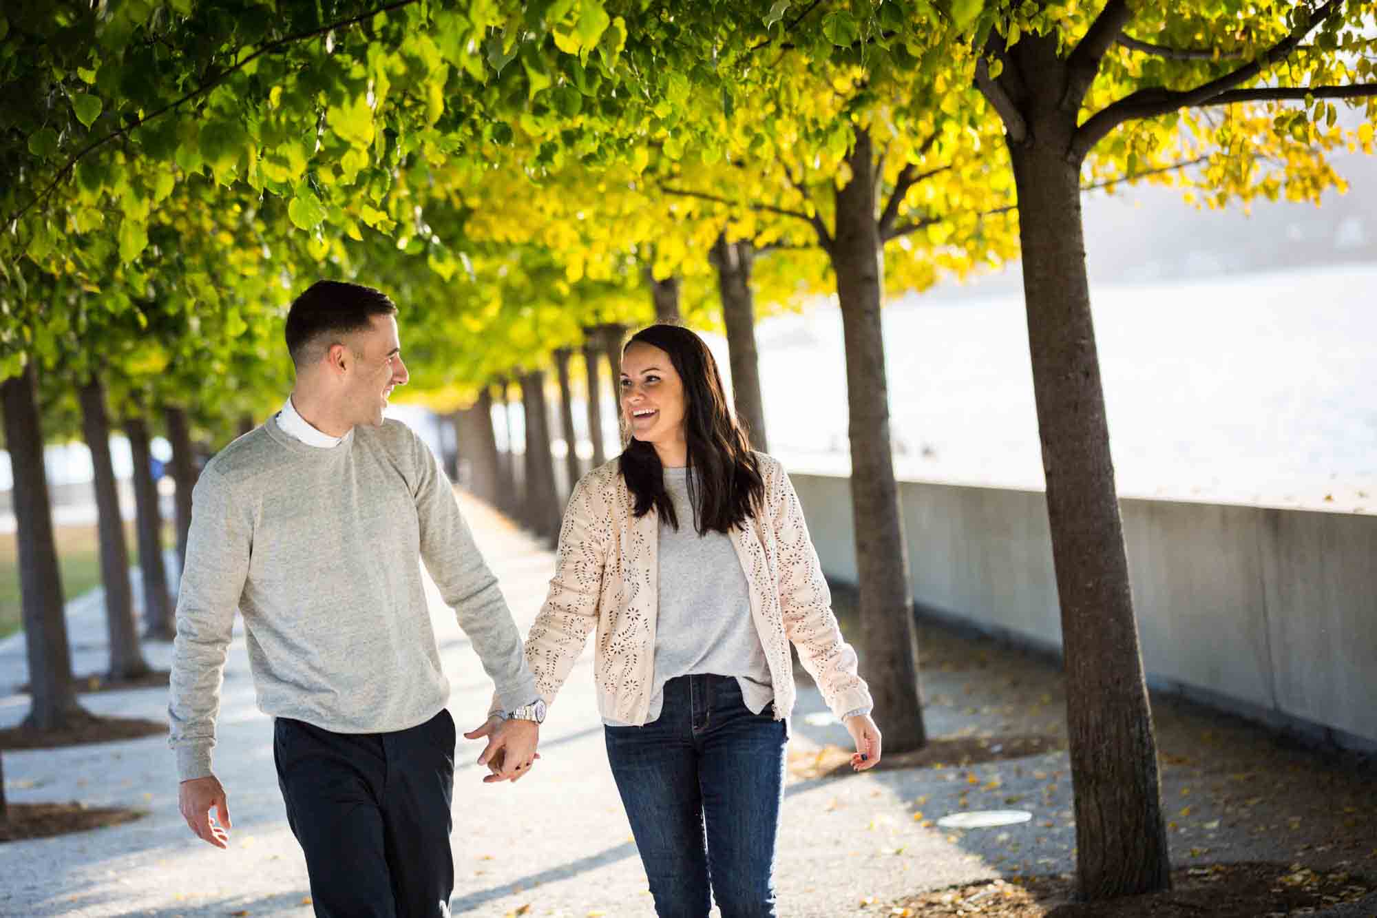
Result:
{"type": "MultiPolygon", "coordinates": [[[[1092,300],[1121,493],[1377,509],[1377,265],[1096,285],[1092,300]]],[[[844,470],[840,313],[757,334],[771,451],[844,470]]],[[[907,295],[884,334],[902,476],[1042,487],[1022,295],[907,295]]]]}

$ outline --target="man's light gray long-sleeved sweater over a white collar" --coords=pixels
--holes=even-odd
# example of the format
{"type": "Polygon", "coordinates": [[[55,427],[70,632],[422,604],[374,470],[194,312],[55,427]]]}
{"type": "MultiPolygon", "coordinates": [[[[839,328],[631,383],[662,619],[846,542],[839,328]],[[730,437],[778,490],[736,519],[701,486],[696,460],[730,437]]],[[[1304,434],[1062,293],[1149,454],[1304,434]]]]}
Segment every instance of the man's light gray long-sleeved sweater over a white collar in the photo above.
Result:
{"type": "Polygon", "coordinates": [[[503,703],[536,697],[497,578],[409,427],[355,427],[319,449],[269,422],[207,463],[193,492],[168,707],[180,779],[212,773],[235,609],[266,714],[340,733],[434,717],[449,681],[417,560],[503,703]]]}

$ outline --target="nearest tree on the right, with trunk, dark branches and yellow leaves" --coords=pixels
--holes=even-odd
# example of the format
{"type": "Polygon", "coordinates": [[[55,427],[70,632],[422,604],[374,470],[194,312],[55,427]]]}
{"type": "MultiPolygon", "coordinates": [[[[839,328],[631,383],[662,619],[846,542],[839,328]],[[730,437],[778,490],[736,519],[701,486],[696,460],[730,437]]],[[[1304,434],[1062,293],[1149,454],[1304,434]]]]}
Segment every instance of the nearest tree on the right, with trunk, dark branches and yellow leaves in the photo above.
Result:
{"type": "Polygon", "coordinates": [[[1325,99],[1377,95],[1377,85],[1330,85],[1371,73],[1369,61],[1345,62],[1337,54],[1363,34],[1362,4],[1348,4],[1347,14],[1341,0],[1235,7],[1135,10],[1110,0],[1092,12],[991,4],[975,26],[982,50],[975,79],[1007,131],[1018,189],[1066,653],[1077,886],[1088,900],[1165,889],[1170,864],[1091,323],[1082,167],[1095,153],[1092,171],[1133,174],[1176,154],[1190,131],[1202,149],[1217,143],[1226,154],[1213,157],[1205,178],[1219,200],[1276,193],[1281,181],[1259,175],[1252,156],[1259,147],[1281,152],[1297,193],[1311,196],[1332,175],[1318,157],[1333,143],[1321,136],[1321,125],[1336,121],[1325,99]],[[1153,43],[1131,36],[1129,28],[1153,34],[1153,43]],[[1315,43],[1301,51],[1311,33],[1318,33],[1315,43]],[[1286,99],[1304,101],[1311,114],[1276,108],[1271,124],[1253,128],[1252,136],[1248,116],[1232,108],[1219,127],[1180,116],[1202,106],[1286,99]]]}

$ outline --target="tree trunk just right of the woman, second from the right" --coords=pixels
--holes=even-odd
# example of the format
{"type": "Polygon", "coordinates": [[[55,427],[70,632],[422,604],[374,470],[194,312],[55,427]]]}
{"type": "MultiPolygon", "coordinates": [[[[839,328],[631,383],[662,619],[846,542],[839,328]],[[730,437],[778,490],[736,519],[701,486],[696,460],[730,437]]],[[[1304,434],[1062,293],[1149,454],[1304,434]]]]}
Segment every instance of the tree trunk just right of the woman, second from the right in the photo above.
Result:
{"type": "Polygon", "coordinates": [[[880,306],[884,252],[874,205],[870,135],[856,132],[851,181],[836,193],[832,267],[841,300],[851,434],[851,504],[861,586],[865,677],[884,746],[894,753],[927,742],[918,688],[917,627],[909,593],[909,555],[890,447],[890,389],[880,306]]]}

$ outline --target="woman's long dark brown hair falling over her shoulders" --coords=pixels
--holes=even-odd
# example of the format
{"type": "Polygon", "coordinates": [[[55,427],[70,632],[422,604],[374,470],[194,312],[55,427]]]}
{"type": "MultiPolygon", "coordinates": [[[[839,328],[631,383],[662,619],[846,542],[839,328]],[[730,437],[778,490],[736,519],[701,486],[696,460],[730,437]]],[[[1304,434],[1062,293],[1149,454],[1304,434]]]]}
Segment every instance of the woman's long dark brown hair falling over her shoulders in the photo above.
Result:
{"type": "MultiPolygon", "coordinates": [[[[642,328],[631,336],[622,353],[635,343],[650,345],[669,354],[669,361],[683,380],[688,503],[694,507],[694,529],[698,535],[712,531],[726,535],[742,525],[764,503],[766,487],[746,431],[727,407],[717,361],[698,335],[679,325],[642,328]]],[[[620,393],[620,379],[617,389],[620,393]]],[[[618,407],[620,404],[618,398],[618,407]]],[[[664,467],[655,448],[632,438],[621,452],[620,467],[627,488],[636,499],[635,514],[643,517],[654,507],[677,529],[679,518],[665,492],[664,467]]]]}

